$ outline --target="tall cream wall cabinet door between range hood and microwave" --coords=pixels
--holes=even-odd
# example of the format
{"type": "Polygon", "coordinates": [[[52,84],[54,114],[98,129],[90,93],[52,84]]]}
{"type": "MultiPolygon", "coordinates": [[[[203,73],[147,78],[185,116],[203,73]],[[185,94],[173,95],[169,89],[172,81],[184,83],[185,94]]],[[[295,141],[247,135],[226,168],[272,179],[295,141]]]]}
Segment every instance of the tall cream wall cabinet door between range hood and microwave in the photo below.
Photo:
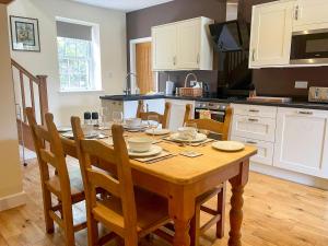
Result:
{"type": "Polygon", "coordinates": [[[256,5],[253,9],[249,67],[290,62],[294,2],[256,5]]]}

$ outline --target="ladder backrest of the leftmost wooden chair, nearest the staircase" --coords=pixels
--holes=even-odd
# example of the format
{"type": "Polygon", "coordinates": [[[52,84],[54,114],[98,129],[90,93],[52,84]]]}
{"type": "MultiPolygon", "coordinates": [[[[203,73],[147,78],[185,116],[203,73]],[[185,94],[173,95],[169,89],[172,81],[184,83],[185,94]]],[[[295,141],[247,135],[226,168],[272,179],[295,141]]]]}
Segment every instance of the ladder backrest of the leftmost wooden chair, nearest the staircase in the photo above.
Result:
{"type": "MultiPolygon", "coordinates": [[[[61,189],[61,200],[63,202],[71,200],[71,186],[67,168],[65,152],[61,144],[61,138],[54,124],[54,116],[49,113],[45,115],[46,128],[37,125],[34,110],[26,108],[26,116],[31,127],[35,151],[39,164],[43,188],[49,180],[49,165],[56,168],[61,189]]],[[[55,175],[55,174],[54,174],[55,175]]]]}

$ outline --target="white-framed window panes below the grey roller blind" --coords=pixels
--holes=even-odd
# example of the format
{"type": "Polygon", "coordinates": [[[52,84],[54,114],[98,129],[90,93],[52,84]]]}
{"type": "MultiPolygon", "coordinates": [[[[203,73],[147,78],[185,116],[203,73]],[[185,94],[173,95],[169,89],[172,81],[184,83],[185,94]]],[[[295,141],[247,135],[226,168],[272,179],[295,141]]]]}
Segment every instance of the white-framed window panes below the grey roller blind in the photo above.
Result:
{"type": "Polygon", "coordinates": [[[61,91],[96,90],[92,80],[91,42],[57,37],[61,91]]]}

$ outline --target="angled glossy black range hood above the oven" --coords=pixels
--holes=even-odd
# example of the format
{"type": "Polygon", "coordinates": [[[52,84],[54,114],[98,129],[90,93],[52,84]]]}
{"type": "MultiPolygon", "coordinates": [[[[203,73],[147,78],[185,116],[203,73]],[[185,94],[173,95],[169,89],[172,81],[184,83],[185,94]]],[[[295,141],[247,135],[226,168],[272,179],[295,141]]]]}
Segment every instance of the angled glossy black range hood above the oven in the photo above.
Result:
{"type": "Polygon", "coordinates": [[[248,50],[249,28],[249,24],[241,20],[210,25],[214,48],[219,52],[248,50]]]}

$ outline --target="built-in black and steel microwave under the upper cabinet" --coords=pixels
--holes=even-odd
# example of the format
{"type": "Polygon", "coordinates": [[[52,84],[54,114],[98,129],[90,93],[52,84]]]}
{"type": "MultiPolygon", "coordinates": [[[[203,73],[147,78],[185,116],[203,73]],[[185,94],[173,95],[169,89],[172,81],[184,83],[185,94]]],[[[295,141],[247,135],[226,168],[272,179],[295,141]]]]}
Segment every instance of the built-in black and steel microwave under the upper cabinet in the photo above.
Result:
{"type": "Polygon", "coordinates": [[[328,28],[293,33],[291,46],[291,65],[327,63],[328,28]]]}

